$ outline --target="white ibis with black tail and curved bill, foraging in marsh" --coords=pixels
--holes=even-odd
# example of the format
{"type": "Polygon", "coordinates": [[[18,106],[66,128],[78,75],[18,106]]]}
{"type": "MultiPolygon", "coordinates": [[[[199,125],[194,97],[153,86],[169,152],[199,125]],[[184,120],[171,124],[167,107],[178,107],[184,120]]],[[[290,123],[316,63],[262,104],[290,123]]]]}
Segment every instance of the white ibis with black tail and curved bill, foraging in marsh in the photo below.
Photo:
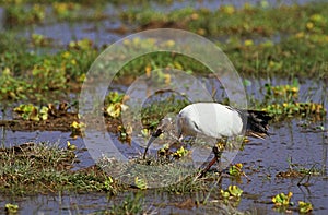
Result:
{"type": "MultiPolygon", "coordinates": [[[[268,121],[271,117],[265,111],[242,110],[218,103],[196,103],[183,108],[176,118],[178,140],[198,134],[213,138],[233,138],[245,134],[265,139],[268,135],[268,121]]],[[[143,157],[151,143],[163,132],[172,129],[173,121],[164,118],[149,140],[143,157]]],[[[206,171],[219,159],[221,154],[213,147],[215,157],[206,171]]]]}

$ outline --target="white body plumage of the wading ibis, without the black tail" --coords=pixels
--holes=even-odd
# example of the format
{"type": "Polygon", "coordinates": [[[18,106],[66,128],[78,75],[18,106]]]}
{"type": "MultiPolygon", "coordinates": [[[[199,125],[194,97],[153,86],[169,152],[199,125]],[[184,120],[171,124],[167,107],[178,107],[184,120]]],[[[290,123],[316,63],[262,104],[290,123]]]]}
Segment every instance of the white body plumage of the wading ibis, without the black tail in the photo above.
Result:
{"type": "Polygon", "coordinates": [[[243,132],[241,115],[233,108],[216,103],[188,105],[177,116],[178,133],[183,136],[201,134],[220,139],[243,132]]]}

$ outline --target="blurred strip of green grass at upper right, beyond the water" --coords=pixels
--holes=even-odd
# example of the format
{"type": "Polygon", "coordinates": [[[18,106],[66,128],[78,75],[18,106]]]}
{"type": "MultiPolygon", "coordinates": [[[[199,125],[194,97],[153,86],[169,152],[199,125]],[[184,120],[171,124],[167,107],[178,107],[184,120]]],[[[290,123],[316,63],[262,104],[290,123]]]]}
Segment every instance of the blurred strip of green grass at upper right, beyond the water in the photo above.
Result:
{"type": "MultiPolygon", "coordinates": [[[[154,11],[152,8],[131,8],[121,12],[121,19],[141,26],[159,23],[171,24],[206,36],[238,35],[270,36],[277,33],[297,33],[306,29],[313,14],[321,16],[320,25],[326,26],[327,3],[311,2],[305,5],[281,5],[262,8],[245,4],[242,9],[222,5],[218,10],[184,8],[174,11],[154,11]]],[[[318,20],[318,19],[316,19],[318,20]]],[[[327,33],[326,29],[321,29],[327,33]]]]}

